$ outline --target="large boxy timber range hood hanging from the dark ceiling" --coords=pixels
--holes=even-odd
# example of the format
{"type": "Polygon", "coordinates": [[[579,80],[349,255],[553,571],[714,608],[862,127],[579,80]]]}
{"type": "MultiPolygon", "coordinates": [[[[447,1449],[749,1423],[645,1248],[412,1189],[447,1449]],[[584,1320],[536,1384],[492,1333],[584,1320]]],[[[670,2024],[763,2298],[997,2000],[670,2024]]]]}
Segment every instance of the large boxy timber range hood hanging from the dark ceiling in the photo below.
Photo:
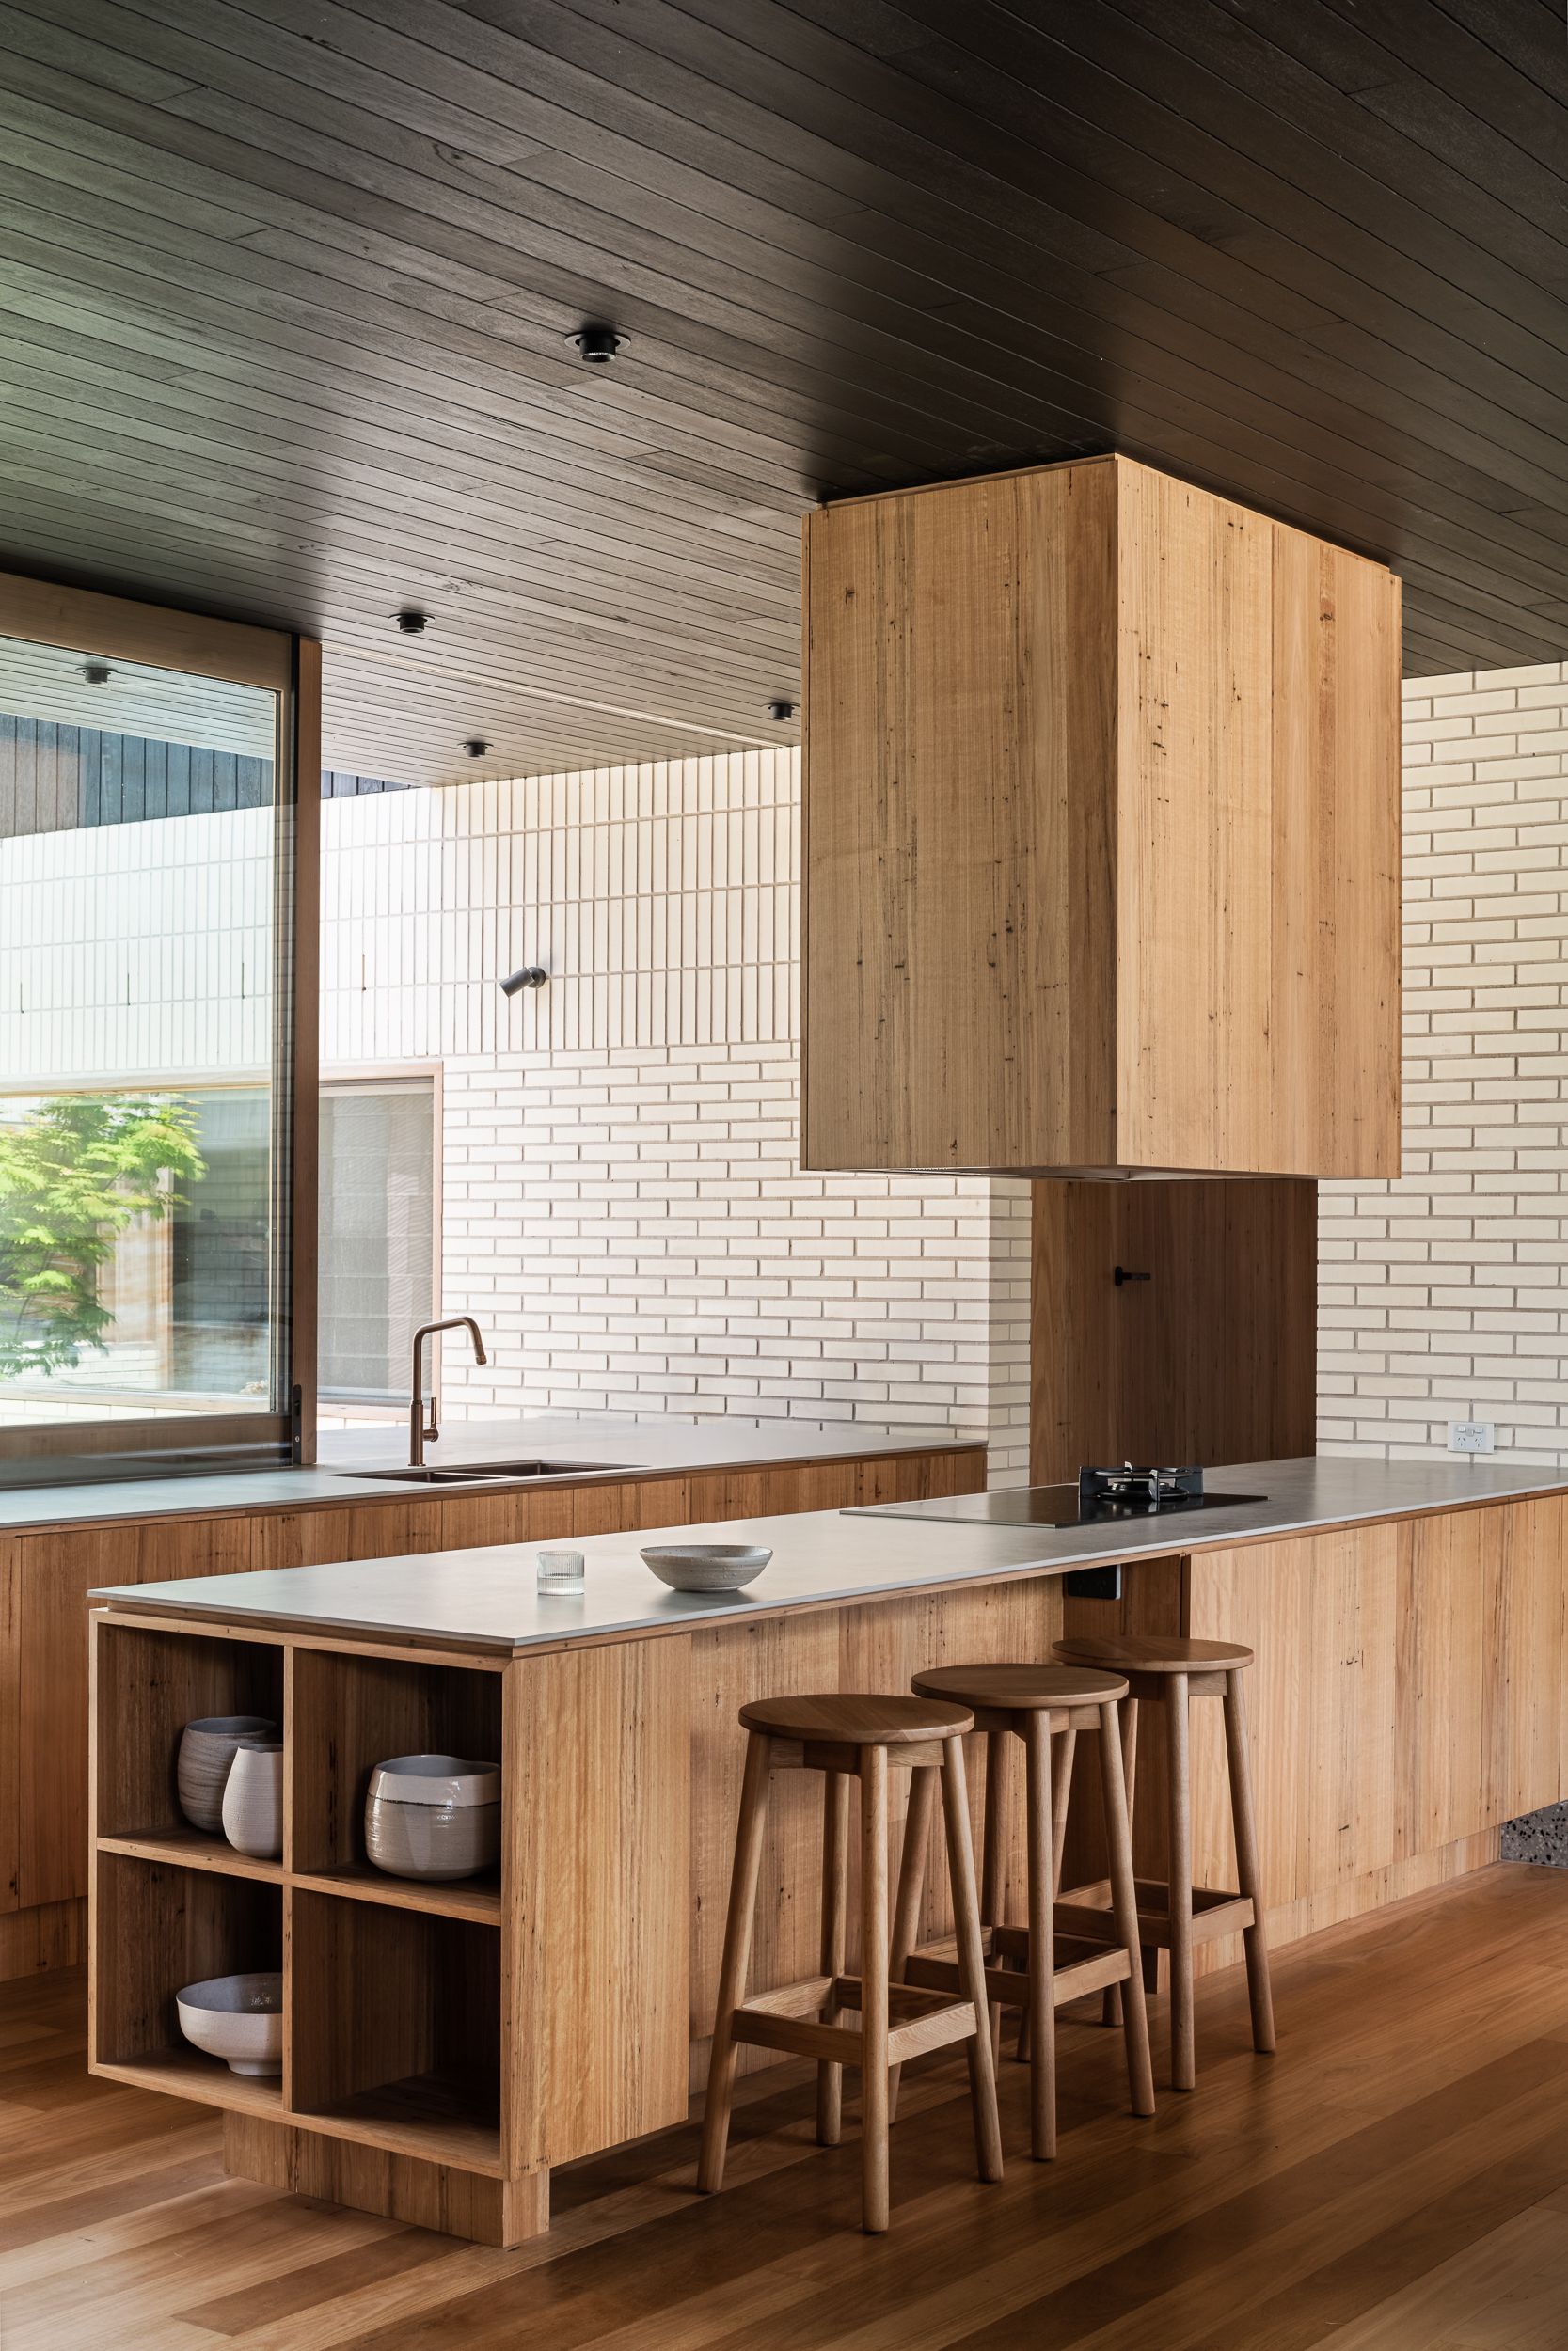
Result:
{"type": "Polygon", "coordinates": [[[1399,1173],[1399,583],[1126,458],[806,520],[809,1168],[1399,1173]]]}

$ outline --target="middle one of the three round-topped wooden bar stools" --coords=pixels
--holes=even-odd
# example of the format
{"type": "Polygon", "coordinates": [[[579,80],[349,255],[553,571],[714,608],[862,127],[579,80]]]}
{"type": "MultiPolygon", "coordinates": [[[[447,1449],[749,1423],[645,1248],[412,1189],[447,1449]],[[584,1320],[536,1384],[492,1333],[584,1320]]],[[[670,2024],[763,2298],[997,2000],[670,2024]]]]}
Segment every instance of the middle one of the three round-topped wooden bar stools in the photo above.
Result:
{"type": "MultiPolygon", "coordinates": [[[[929,1674],[914,1674],[910,1688],[922,1697],[945,1697],[969,1707],[976,1730],[987,1733],[980,1937],[992,1965],[985,1970],[985,1991],[992,2003],[992,2020],[999,2017],[1001,2008],[1025,2010],[1030,2027],[1030,2142],[1034,2158],[1044,2163],[1056,2154],[1056,2010],[1067,2001],[1081,2001],[1084,1994],[1103,1991],[1110,1984],[1126,1984],[1126,2076],[1133,2114],[1154,2114],[1150,2029],[1143,2010],[1138,1904],[1133,1897],[1133,1846],[1121,1787],[1117,1700],[1126,1697],[1126,1681],[1119,1674],[1095,1674],[1063,1665],[947,1665],[929,1674]],[[1105,1794],[1117,1942],[1107,1949],[1095,1937],[1058,1951],[1053,1900],[1067,1822],[1072,1747],[1079,1730],[1098,1730],[1100,1735],[1100,1787],[1105,1794]],[[1011,1751],[1011,1740],[1020,1740],[1025,1751],[1027,1928],[1009,1925],[1001,1918],[1006,1754],[1011,1751]],[[1056,1791],[1051,1777],[1053,1751],[1058,1759],[1056,1791]]],[[[903,1869],[898,1871],[893,1977],[903,1977],[907,1984],[952,1987],[957,1982],[957,1961],[945,1958],[938,1944],[914,1949],[933,1803],[936,1775],[922,1770],[914,1775],[910,1789],[903,1869]]]]}

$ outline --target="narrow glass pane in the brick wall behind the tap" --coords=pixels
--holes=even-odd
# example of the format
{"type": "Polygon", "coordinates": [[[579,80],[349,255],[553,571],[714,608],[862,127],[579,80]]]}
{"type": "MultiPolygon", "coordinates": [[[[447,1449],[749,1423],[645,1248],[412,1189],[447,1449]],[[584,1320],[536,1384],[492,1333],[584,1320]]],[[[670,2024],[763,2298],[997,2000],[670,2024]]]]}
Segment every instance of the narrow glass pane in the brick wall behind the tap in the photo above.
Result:
{"type": "Polygon", "coordinates": [[[324,1418],[409,1401],[409,1345],[435,1298],[430,1079],[322,1089],[320,1396],[324,1418]]]}

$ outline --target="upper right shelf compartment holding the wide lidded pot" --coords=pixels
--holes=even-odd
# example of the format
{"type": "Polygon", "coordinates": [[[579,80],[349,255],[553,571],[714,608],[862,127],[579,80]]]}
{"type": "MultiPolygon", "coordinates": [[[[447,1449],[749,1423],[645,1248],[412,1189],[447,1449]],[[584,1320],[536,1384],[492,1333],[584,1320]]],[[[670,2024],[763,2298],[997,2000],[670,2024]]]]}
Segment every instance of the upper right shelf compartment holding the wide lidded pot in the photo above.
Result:
{"type": "MultiPolygon", "coordinates": [[[[397,1890],[428,1881],[371,1869],[364,1853],[369,1775],[376,1763],[407,1754],[501,1763],[501,1674],[320,1648],[294,1650],[292,1672],[292,1869],[313,1878],[348,1871],[355,1886],[390,1888],[386,1900],[397,1902],[397,1890]]],[[[498,1904],[501,1871],[428,1890],[491,1893],[498,1904]]],[[[473,1907],[428,1907],[473,1916],[473,1907]]]]}

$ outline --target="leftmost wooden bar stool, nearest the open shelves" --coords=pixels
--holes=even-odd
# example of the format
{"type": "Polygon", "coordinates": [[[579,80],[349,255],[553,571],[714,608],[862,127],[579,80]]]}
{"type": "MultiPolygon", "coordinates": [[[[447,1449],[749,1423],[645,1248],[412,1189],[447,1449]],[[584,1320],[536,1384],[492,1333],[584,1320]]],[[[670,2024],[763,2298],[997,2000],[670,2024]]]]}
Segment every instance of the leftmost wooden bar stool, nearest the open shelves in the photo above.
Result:
{"type": "MultiPolygon", "coordinates": [[[[969,2043],[969,2092],[976,2121],[980,2179],[1001,2179],[997,2078],[985,2024],[985,1961],[976,1857],[969,1838],[964,1787],[966,1707],[922,1697],[769,1697],[741,1707],[750,1733],[736,1864],[729,1881],[719,2010],[708,2067],[703,2154],[696,2184],[724,2184],[729,2109],[741,2043],[816,2057],[818,2142],[837,2146],[844,2067],[860,2069],[863,2222],[872,2233],[889,2224],[889,2067],[952,2041],[969,2043]],[[769,1777],[776,1770],[825,1773],[823,1813],[823,1970],[750,2001],[752,1914],[766,1827],[769,1777]],[[914,1787],[943,1777],[943,1817],[957,1921],[957,1996],[893,1984],[889,1975],[889,1770],[917,1773],[914,1787]],[[844,1975],[849,1782],[860,1782],[860,1975],[844,1975]],[[858,2024],[839,2024],[844,2008],[858,2024]]],[[[926,1813],[929,1822],[929,1813],[926,1813]]]]}

